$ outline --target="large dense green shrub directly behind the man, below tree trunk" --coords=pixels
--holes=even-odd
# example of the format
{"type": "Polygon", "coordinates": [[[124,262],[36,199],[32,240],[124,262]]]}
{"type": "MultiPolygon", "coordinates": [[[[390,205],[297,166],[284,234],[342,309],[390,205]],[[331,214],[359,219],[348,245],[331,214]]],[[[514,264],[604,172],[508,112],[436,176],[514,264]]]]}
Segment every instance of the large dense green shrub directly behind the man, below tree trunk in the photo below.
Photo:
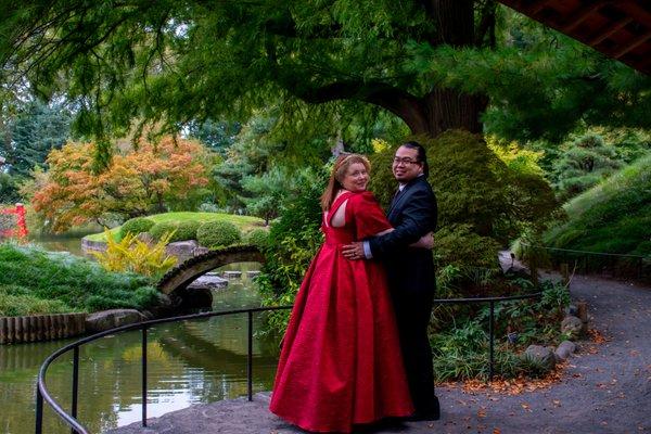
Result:
{"type": "MultiPolygon", "coordinates": [[[[532,162],[507,164],[480,137],[467,131],[414,139],[427,152],[429,181],[438,202],[434,234],[438,269],[450,265],[496,269],[501,246],[527,228],[542,228],[558,213],[550,186],[532,162]]],[[[395,149],[370,157],[369,188],[384,206],[396,188],[391,171],[395,149]]]]}

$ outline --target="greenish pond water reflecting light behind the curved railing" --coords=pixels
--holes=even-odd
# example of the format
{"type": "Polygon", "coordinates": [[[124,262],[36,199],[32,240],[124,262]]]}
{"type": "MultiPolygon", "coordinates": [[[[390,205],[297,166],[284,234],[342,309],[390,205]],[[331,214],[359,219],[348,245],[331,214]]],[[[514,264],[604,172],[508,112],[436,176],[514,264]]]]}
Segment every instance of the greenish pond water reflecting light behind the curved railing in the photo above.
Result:
{"type": "MultiPolygon", "coordinates": [[[[213,292],[213,308],[259,306],[258,293],[245,272],[258,268],[255,263],[241,263],[220,269],[243,272],[241,279],[233,279],[226,289],[213,292]]],[[[261,329],[261,321],[260,316],[254,317],[255,330],[261,329]]],[[[154,327],[148,340],[148,417],[192,404],[246,395],[245,315],[154,327]]],[[[48,355],[68,342],[73,341],[0,345],[1,433],[34,432],[38,368],[48,355]]],[[[270,390],[278,344],[256,337],[253,350],[254,392],[270,390]]],[[[78,419],[90,431],[101,432],[140,421],[140,332],[106,336],[81,347],[78,419]]],[[[71,408],[71,379],[72,353],[55,361],[47,376],[48,390],[65,409],[71,408]]],[[[43,432],[69,433],[69,429],[46,406],[43,432]]]]}

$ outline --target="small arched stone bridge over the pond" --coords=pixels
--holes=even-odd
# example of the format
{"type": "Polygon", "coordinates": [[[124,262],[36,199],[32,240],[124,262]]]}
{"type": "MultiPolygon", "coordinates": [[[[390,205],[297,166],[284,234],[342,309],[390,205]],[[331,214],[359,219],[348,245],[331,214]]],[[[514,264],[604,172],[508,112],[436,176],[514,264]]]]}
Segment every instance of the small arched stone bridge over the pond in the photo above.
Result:
{"type": "Polygon", "coordinates": [[[238,245],[210,251],[179,264],[158,281],[157,289],[174,298],[179,308],[209,307],[212,295],[188,291],[196,278],[221,266],[233,263],[264,263],[265,256],[253,245],[238,245]],[[208,301],[209,298],[209,301],[208,301]]]}

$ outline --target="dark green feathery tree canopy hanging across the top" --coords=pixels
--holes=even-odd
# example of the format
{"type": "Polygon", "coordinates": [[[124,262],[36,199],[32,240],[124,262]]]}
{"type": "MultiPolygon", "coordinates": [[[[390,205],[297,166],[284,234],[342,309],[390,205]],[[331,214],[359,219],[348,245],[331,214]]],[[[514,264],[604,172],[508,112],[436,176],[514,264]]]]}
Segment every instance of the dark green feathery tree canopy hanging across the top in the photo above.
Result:
{"type": "Polygon", "coordinates": [[[98,136],[279,100],[340,119],[371,104],[430,136],[481,132],[489,103],[486,122],[513,137],[649,123],[648,77],[493,0],[25,1],[5,5],[0,30],[2,81],[65,90],[77,128],[98,136]]]}

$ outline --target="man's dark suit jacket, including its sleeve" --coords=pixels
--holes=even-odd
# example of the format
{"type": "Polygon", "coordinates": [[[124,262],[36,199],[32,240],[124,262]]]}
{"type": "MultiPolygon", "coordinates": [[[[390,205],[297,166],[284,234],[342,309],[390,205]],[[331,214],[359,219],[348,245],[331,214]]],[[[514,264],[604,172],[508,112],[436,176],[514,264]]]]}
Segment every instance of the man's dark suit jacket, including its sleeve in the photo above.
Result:
{"type": "Polygon", "coordinates": [[[394,297],[433,295],[436,281],[432,251],[409,244],[434,231],[436,217],[436,196],[426,178],[420,176],[405,186],[388,209],[387,218],[395,230],[369,240],[373,257],[385,264],[394,297]]]}

